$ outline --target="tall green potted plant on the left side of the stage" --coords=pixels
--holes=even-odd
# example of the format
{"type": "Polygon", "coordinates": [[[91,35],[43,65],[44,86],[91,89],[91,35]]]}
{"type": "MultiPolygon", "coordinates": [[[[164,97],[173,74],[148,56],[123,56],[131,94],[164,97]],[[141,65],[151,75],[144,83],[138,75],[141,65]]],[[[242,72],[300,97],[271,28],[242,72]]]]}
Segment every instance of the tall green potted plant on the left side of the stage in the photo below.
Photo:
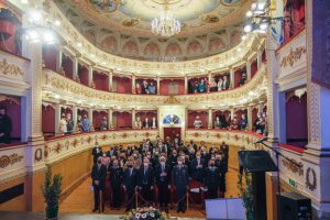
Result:
{"type": "Polygon", "coordinates": [[[62,179],[63,177],[59,174],[52,177],[52,169],[50,165],[45,174],[45,184],[42,186],[42,194],[46,202],[46,218],[48,220],[57,219],[58,215],[58,201],[62,193],[62,179]]]}

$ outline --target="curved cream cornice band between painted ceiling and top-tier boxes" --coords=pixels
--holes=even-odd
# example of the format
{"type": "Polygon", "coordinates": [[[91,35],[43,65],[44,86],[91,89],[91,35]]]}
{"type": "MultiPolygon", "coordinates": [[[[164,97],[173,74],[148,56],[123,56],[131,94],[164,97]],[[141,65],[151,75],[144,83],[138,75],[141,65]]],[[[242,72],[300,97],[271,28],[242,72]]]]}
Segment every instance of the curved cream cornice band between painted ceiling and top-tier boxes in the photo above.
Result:
{"type": "Polygon", "coordinates": [[[176,75],[183,73],[200,74],[202,69],[221,69],[228,66],[235,66],[248,57],[253,56],[256,48],[264,43],[264,38],[258,34],[250,34],[245,41],[242,41],[232,50],[213,55],[207,58],[199,58],[189,62],[145,62],[130,58],[123,58],[109,53],[106,53],[94,44],[91,44],[80,32],[68,21],[63,12],[55,6],[54,2],[48,1],[45,9],[50,21],[61,21],[59,26],[53,29],[67,43],[66,47],[72,51],[79,52],[79,54],[88,61],[91,61],[97,67],[101,69],[121,69],[124,73],[143,73],[145,75],[155,75],[160,73],[162,76],[176,75]],[[81,43],[81,47],[76,43],[81,43]],[[240,52],[238,52],[238,48],[240,52]],[[95,55],[91,57],[90,55],[95,55]]]}

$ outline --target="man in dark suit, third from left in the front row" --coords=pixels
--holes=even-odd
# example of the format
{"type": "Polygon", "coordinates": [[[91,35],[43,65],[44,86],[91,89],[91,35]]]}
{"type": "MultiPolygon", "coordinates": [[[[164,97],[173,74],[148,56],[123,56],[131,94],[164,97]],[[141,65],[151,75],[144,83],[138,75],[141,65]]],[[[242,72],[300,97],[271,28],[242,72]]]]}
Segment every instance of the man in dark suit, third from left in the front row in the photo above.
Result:
{"type": "Polygon", "coordinates": [[[128,160],[128,168],[123,173],[123,188],[128,197],[127,211],[129,211],[132,208],[135,208],[134,207],[135,198],[133,198],[133,196],[136,186],[138,186],[138,170],[133,167],[133,158],[130,157],[128,160]]]}

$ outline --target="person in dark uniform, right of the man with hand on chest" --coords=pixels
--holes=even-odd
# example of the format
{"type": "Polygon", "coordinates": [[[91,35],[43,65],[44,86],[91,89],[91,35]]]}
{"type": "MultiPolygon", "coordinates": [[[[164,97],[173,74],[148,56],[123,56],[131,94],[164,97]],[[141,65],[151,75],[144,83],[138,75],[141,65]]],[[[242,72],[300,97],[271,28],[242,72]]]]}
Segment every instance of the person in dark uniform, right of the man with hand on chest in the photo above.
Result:
{"type": "Polygon", "coordinates": [[[176,197],[178,199],[177,204],[177,212],[186,212],[186,199],[184,198],[186,195],[186,190],[188,189],[189,183],[189,169],[188,166],[184,165],[184,158],[177,158],[177,165],[173,168],[173,184],[176,190],[176,197]]]}

